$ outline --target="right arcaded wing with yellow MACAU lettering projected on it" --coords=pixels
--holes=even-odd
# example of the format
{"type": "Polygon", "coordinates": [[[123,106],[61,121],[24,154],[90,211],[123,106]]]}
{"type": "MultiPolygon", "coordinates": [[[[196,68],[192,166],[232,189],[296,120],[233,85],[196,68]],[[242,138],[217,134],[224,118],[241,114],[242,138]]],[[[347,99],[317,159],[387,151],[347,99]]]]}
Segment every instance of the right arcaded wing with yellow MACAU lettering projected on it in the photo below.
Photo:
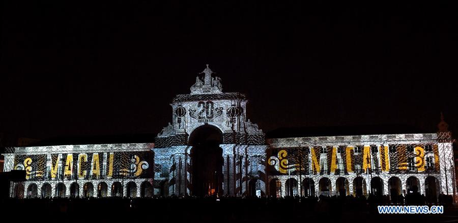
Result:
{"type": "MultiPolygon", "coordinates": [[[[317,196],[339,195],[342,185],[346,195],[355,195],[357,181],[364,183],[366,194],[372,191],[390,195],[394,187],[404,193],[412,185],[419,187],[420,194],[431,193],[428,189],[433,186],[437,187],[437,195],[453,194],[449,132],[284,138],[268,142],[266,173],[267,181],[273,183],[267,185],[279,181],[281,196],[291,194],[291,190],[293,195],[304,195],[309,186],[317,196]],[[292,189],[290,179],[298,182],[292,189]],[[304,180],[307,183],[302,185],[304,180]],[[320,184],[323,180],[330,182],[329,188],[320,184]],[[435,185],[431,183],[434,181],[435,185]]],[[[273,193],[275,189],[267,190],[273,193]]]]}

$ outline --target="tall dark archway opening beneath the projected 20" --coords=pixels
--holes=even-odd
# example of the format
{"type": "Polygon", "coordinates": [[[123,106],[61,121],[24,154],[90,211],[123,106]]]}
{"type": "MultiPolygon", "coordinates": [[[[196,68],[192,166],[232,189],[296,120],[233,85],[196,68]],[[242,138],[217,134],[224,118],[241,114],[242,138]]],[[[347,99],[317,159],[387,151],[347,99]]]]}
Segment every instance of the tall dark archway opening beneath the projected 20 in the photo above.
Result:
{"type": "Polygon", "coordinates": [[[192,195],[222,195],[221,143],[222,132],[214,125],[201,125],[189,136],[192,195]]]}

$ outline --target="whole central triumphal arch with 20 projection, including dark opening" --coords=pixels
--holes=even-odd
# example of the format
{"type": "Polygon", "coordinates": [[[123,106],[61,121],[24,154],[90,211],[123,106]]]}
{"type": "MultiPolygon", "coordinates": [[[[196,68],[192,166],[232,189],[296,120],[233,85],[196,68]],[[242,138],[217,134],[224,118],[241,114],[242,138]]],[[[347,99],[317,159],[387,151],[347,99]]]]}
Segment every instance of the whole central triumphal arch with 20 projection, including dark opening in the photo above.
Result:
{"type": "Polygon", "coordinates": [[[222,92],[208,65],[202,73],[173,99],[173,122],[155,140],[162,195],[244,195],[249,182],[249,195],[266,195],[265,134],[246,117],[245,95],[222,92]]]}

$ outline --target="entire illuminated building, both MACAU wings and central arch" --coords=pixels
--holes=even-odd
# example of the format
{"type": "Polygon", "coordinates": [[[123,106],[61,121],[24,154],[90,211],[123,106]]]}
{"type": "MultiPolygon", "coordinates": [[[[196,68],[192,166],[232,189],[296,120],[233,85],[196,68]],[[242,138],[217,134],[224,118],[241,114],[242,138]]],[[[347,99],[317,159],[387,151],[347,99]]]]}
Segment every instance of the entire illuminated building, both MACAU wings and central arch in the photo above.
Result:
{"type": "Polygon", "coordinates": [[[25,197],[455,194],[443,120],[431,134],[266,140],[246,116],[245,95],[223,92],[208,66],[202,74],[173,99],[173,120],[154,144],[17,147],[4,154],[5,171],[26,170],[25,197]]]}

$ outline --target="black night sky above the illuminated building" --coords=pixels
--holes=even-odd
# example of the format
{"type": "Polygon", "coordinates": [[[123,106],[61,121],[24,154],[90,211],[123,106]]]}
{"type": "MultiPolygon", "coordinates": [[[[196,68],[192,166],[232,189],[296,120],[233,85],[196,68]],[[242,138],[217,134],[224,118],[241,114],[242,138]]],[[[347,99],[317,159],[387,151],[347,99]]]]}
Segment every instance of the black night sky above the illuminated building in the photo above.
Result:
{"type": "Polygon", "coordinates": [[[0,132],[158,133],[206,63],[263,130],[458,126],[451,5],[65,2],[2,1],[0,132]]]}

